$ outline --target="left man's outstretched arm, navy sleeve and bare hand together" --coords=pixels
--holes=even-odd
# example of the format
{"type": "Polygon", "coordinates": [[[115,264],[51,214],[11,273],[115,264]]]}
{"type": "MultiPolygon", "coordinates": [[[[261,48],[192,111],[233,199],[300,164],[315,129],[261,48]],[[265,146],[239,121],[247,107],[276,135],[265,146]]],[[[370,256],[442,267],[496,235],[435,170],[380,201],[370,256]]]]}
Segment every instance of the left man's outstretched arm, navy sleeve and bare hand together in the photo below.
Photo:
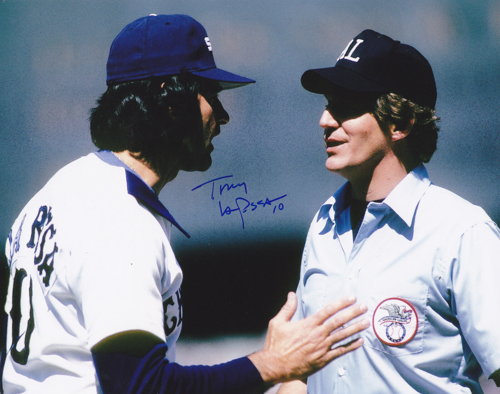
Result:
{"type": "Polygon", "coordinates": [[[296,308],[293,293],[269,322],[264,349],[218,366],[182,367],[166,360],[166,344],[143,331],[109,336],[92,348],[104,394],[250,394],[276,383],[305,379],[331,360],[362,345],[337,342],[365,329],[362,320],[337,330],[366,311],[354,298],[337,300],[299,322],[289,322],[296,308]],[[334,316],[333,316],[334,315],[334,316]]]}

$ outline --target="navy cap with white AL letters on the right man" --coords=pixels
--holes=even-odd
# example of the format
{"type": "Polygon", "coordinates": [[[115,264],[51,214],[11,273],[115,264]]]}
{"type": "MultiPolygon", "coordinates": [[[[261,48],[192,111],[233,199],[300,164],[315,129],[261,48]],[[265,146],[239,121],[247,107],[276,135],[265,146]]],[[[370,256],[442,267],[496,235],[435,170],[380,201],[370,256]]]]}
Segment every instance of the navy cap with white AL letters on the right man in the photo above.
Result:
{"type": "Polygon", "coordinates": [[[347,44],[333,67],[307,70],[300,79],[313,93],[338,86],[358,93],[395,93],[430,108],[436,84],[429,62],[410,45],[373,30],[363,30],[347,44]]]}

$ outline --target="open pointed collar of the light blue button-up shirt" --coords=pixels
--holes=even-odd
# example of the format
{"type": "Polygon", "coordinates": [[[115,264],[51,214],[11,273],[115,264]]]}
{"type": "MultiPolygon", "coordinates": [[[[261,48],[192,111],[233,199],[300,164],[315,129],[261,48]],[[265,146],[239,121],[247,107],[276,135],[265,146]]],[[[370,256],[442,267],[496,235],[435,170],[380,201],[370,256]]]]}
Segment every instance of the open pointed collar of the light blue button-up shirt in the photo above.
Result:
{"type": "MultiPolygon", "coordinates": [[[[408,227],[411,227],[418,202],[430,185],[427,170],[422,163],[411,170],[385,197],[383,204],[392,209],[408,227]]],[[[349,205],[350,183],[345,182],[321,207],[317,220],[324,217],[326,210],[335,220],[349,205]]]]}

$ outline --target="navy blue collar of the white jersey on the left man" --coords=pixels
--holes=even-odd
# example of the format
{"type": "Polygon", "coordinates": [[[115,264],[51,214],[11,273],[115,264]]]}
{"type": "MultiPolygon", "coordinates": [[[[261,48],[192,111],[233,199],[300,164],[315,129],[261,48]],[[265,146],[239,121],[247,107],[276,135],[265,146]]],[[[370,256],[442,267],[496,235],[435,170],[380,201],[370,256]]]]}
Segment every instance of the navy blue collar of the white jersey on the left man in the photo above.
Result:
{"type": "Polygon", "coordinates": [[[103,162],[110,164],[115,167],[123,167],[125,169],[125,179],[127,192],[131,196],[134,196],[137,200],[140,200],[147,208],[161,215],[175,227],[177,227],[182,234],[187,238],[191,236],[187,234],[186,231],[175,221],[173,216],[168,212],[165,206],[159,201],[158,196],[154,193],[153,189],[149,187],[135,172],[118,159],[109,150],[98,150],[94,154],[101,159],[103,162]]]}

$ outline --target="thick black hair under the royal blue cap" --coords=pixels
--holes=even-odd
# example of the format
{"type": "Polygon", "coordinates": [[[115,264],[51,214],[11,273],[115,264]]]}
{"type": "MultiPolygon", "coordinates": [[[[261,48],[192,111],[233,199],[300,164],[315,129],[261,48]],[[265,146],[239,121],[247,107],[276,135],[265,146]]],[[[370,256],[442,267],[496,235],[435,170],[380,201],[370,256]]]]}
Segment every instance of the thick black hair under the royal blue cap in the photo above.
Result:
{"type": "Polygon", "coordinates": [[[92,142],[99,149],[140,153],[157,174],[174,161],[190,170],[191,137],[202,135],[203,89],[207,82],[187,73],[109,86],[90,110],[92,142]]]}

